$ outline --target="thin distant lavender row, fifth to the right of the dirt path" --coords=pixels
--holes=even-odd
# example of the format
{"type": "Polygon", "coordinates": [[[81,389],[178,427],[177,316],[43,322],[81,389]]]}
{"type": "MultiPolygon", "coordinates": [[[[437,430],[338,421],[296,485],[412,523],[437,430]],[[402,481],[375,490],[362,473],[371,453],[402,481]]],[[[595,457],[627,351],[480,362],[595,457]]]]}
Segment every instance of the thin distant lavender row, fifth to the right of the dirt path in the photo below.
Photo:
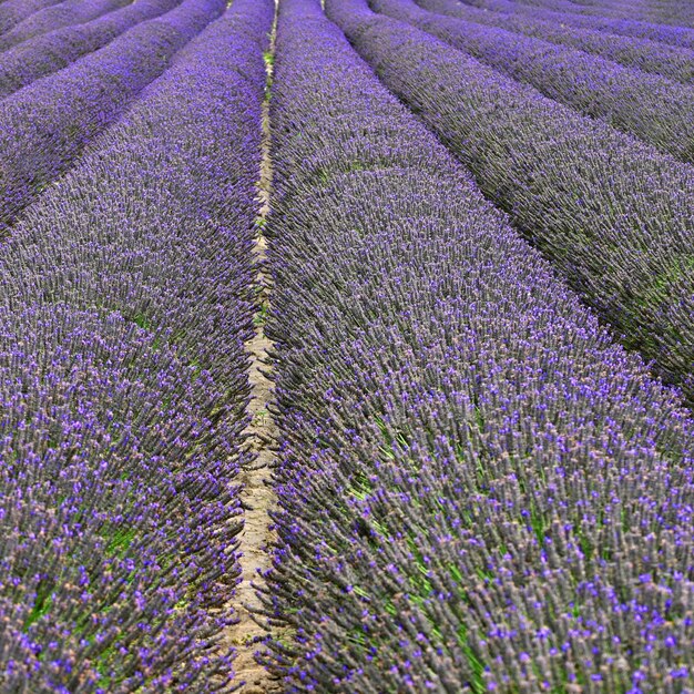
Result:
{"type": "Polygon", "coordinates": [[[589,17],[548,10],[540,7],[529,7],[511,0],[460,0],[465,4],[477,7],[483,10],[499,12],[514,12],[523,17],[533,17],[564,23],[569,27],[581,29],[594,29],[606,33],[615,33],[624,37],[635,37],[637,39],[651,39],[671,45],[680,45],[694,50],[694,30],[688,27],[667,27],[650,22],[636,21],[633,19],[615,19],[611,17],[589,17]]]}

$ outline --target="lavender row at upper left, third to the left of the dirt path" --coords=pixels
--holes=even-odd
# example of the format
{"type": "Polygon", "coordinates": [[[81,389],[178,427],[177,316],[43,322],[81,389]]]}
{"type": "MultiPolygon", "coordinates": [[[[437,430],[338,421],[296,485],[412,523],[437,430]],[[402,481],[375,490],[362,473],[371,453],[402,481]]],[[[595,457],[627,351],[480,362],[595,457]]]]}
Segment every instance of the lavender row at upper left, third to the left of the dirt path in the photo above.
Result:
{"type": "MultiPolygon", "coordinates": [[[[82,0],[88,4],[91,0],[82,0]]],[[[135,0],[82,25],[63,27],[0,54],[0,100],[103,48],[127,29],[169,12],[181,0],[135,0]]]]}

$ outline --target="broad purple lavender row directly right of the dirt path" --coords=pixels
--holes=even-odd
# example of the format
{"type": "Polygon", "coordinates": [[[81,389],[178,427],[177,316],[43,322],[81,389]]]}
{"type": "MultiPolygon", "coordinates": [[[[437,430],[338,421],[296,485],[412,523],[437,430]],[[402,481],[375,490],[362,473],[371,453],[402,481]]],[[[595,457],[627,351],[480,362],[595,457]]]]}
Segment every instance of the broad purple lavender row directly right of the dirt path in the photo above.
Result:
{"type": "MultiPolygon", "coordinates": [[[[328,8],[358,37],[358,6],[328,8]]],[[[673,391],[318,0],[279,4],[271,122],[279,506],[259,596],[294,632],[266,654],[284,691],[691,687],[694,422],[673,391]]]]}

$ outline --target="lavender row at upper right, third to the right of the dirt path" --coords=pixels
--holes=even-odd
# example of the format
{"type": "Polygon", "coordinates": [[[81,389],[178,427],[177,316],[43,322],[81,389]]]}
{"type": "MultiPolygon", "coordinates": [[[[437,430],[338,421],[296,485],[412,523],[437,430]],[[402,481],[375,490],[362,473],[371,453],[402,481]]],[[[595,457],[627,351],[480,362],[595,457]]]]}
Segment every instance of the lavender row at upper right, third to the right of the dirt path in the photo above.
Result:
{"type": "Polygon", "coordinates": [[[694,163],[694,86],[504,29],[433,14],[414,0],[371,0],[370,6],[533,85],[583,115],[600,119],[683,162],[694,163]]]}

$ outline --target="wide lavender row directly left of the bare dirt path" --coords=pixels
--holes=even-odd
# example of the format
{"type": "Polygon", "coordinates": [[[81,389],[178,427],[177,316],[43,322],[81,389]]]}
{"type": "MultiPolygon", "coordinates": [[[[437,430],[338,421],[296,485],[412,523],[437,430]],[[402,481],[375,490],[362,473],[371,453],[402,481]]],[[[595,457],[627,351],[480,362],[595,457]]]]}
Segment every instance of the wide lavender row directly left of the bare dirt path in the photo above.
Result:
{"type": "Polygon", "coordinates": [[[0,690],[231,691],[271,0],[235,0],[0,254],[0,690]],[[23,688],[22,688],[23,687],[23,688]]]}

